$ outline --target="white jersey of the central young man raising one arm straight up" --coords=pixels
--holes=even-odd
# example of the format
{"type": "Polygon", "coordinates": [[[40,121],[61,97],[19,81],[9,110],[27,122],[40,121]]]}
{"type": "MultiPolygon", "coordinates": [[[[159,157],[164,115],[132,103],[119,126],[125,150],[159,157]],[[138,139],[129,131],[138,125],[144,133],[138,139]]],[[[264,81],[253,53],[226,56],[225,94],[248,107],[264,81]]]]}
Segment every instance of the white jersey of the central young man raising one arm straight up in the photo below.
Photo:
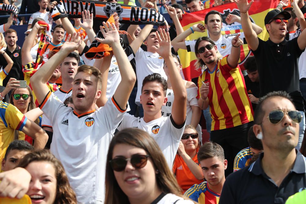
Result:
{"type": "Polygon", "coordinates": [[[181,126],[174,124],[172,116],[160,117],[146,123],[143,118],[125,114],[118,130],[125,128],[139,128],[149,133],[159,145],[164,154],[167,164],[172,169],[173,161],[177,153],[185,123],[181,126]]]}

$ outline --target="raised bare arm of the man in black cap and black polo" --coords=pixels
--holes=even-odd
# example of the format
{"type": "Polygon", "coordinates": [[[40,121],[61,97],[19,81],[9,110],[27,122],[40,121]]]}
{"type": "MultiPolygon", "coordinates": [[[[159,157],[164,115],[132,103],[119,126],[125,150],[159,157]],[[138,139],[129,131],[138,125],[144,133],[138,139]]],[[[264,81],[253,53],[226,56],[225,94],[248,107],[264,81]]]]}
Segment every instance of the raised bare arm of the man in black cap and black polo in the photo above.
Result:
{"type": "Polygon", "coordinates": [[[252,29],[251,20],[248,15],[248,10],[254,1],[252,0],[250,3],[248,3],[248,0],[234,0],[234,2],[237,4],[238,9],[240,10],[242,30],[248,46],[252,50],[257,50],[259,40],[256,32],[252,29]]]}

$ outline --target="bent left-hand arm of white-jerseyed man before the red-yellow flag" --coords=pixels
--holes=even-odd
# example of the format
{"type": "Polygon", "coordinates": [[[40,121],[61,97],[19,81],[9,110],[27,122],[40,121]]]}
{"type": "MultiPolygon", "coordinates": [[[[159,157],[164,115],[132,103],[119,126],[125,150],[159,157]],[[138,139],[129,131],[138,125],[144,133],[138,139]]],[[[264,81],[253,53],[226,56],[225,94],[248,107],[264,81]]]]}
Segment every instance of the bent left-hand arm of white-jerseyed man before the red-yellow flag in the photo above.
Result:
{"type": "Polygon", "coordinates": [[[184,49],[187,50],[186,44],[185,44],[185,40],[186,38],[192,34],[193,32],[204,32],[205,31],[205,27],[203,26],[203,24],[194,24],[191,28],[185,30],[184,32],[182,32],[180,35],[177,35],[176,38],[174,38],[171,41],[171,45],[174,47],[174,49],[184,49]]]}

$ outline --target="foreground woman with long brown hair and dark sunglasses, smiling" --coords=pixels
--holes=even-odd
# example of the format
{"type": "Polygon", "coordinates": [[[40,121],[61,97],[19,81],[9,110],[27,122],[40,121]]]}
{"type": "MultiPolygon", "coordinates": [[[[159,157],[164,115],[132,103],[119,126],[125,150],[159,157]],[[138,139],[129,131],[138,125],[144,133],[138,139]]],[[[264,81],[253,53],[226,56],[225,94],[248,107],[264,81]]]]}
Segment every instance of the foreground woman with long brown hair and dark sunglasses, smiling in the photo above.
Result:
{"type": "Polygon", "coordinates": [[[118,132],[106,161],[105,204],[194,203],[181,195],[162,151],[147,132],[118,132]]]}

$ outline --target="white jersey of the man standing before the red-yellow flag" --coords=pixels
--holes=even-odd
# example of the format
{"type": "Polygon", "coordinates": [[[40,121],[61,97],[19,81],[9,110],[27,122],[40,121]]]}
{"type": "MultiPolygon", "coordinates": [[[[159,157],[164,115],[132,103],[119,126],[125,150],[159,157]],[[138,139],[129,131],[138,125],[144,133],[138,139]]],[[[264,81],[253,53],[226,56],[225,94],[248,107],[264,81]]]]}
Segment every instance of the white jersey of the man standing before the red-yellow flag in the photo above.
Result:
{"type": "MultiPolygon", "coordinates": [[[[236,35],[238,35],[238,33],[222,35],[221,38],[219,38],[217,41],[214,41],[218,51],[223,57],[230,54],[230,50],[232,49],[232,39],[236,37],[236,35]]],[[[239,38],[242,40],[244,39],[243,32],[240,33],[239,38]]],[[[194,52],[195,51],[194,46],[196,45],[196,40],[186,40],[185,45],[187,47],[188,52],[194,52]]]]}

